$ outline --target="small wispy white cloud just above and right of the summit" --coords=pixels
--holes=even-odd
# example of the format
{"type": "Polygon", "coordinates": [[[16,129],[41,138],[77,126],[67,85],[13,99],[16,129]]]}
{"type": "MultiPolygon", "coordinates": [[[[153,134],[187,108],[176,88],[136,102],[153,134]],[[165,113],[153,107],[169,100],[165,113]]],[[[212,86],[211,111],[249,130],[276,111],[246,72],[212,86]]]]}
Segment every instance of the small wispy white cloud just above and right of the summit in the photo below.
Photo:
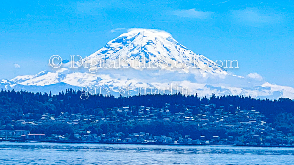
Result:
{"type": "Polygon", "coordinates": [[[176,10],[173,15],[183,17],[183,18],[199,18],[206,19],[210,18],[213,12],[197,11],[195,8],[188,10],[176,10]]]}

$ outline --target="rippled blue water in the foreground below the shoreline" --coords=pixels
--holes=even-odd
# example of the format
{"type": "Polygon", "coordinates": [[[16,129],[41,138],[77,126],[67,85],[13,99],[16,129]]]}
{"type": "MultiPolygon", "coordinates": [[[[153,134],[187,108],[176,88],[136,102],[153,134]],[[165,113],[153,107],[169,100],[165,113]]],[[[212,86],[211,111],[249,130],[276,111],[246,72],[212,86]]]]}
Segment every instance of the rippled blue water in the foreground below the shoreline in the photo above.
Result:
{"type": "Polygon", "coordinates": [[[0,164],[294,164],[294,148],[0,142],[0,164]]]}

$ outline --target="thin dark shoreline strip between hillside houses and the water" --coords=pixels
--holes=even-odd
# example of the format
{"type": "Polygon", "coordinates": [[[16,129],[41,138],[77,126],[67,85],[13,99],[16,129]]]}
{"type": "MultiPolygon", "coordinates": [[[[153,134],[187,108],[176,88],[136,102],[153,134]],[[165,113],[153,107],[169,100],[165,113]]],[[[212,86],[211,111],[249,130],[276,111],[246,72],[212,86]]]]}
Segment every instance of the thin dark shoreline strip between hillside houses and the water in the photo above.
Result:
{"type": "MultiPolygon", "coordinates": [[[[12,141],[1,141],[1,142],[12,142],[12,141]]],[[[0,142],[0,144],[1,144],[0,142]]],[[[294,146],[269,146],[269,145],[235,145],[235,144],[183,144],[183,143],[130,143],[130,142],[78,142],[78,141],[14,141],[20,143],[72,143],[72,144],[139,144],[139,145],[171,145],[171,146],[232,146],[232,147],[284,147],[284,148],[294,148],[294,146]]]]}

